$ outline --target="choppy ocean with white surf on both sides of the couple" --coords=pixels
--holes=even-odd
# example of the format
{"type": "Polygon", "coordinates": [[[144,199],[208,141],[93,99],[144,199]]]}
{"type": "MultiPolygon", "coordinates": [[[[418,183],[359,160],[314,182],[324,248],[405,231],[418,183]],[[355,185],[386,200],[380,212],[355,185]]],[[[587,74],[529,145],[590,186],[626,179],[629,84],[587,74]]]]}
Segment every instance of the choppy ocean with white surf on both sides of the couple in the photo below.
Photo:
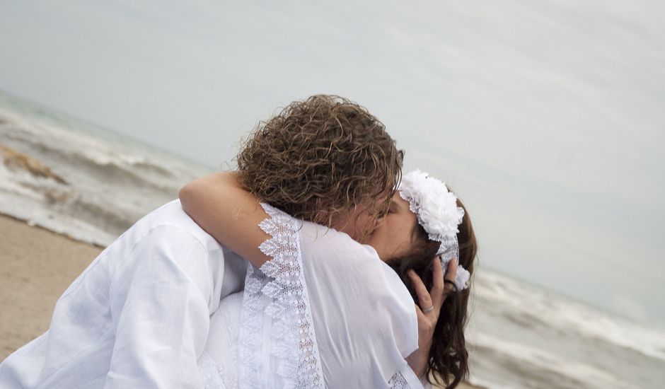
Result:
{"type": "MultiPolygon", "coordinates": [[[[6,93],[0,93],[0,146],[0,213],[96,245],[108,245],[177,197],[186,182],[213,171],[6,93]]],[[[471,304],[471,383],[660,388],[665,382],[661,330],[491,272],[482,262],[471,304]]]]}

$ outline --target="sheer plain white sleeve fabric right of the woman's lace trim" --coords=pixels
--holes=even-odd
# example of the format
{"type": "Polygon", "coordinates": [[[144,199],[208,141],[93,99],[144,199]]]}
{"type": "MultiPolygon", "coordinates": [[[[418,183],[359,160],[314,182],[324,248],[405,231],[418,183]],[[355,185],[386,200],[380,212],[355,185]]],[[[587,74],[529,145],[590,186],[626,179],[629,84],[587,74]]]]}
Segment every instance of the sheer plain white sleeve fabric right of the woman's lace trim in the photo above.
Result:
{"type": "Polygon", "coordinates": [[[391,388],[388,381],[417,349],[409,291],[370,246],[308,222],[299,233],[326,386],[391,388]]]}

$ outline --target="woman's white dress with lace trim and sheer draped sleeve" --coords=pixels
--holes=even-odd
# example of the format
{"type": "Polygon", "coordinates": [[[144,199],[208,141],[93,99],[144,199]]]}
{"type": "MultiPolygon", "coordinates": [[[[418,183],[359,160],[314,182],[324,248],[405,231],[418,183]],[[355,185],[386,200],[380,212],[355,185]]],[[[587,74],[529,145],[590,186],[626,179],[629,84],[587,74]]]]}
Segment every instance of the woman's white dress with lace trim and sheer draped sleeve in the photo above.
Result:
{"type": "Polygon", "coordinates": [[[262,205],[272,260],[212,316],[204,387],[422,388],[405,361],[417,317],[397,274],[346,234],[262,205]]]}

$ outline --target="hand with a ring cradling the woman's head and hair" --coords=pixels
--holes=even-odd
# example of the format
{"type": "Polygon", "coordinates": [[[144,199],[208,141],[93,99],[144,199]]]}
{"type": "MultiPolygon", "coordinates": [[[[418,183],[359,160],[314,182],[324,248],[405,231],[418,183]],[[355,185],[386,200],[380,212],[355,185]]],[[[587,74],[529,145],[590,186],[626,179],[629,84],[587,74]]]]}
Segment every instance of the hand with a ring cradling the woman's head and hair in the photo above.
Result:
{"type": "Polygon", "coordinates": [[[427,371],[429,349],[432,347],[432,336],[434,335],[436,322],[439,320],[439,311],[441,306],[444,305],[444,301],[446,301],[446,296],[453,289],[452,281],[455,280],[457,275],[457,260],[450,261],[444,280],[441,259],[438,255],[434,257],[432,260],[432,289],[429,290],[429,293],[416,272],[409,270],[408,275],[413,283],[420,306],[415,306],[418,315],[418,349],[407,356],[406,361],[416,375],[422,378],[422,375],[427,371]]]}

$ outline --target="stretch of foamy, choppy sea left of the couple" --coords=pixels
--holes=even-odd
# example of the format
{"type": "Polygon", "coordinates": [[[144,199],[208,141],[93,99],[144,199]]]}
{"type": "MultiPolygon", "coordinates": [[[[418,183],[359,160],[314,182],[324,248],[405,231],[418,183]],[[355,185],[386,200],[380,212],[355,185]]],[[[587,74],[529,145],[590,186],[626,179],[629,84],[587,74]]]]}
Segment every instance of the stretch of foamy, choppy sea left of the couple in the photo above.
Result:
{"type": "Polygon", "coordinates": [[[211,172],[131,139],[100,137],[89,123],[10,103],[20,109],[0,108],[0,211],[73,238],[108,245],[211,172]]]}

